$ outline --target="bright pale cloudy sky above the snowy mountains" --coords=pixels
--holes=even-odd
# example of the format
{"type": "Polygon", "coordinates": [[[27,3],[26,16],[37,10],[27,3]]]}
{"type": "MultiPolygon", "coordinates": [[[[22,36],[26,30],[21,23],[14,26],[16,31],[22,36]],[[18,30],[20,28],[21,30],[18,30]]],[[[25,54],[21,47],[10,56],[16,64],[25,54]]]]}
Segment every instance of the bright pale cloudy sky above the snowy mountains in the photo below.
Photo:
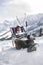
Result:
{"type": "Polygon", "coordinates": [[[43,13],[43,0],[0,0],[0,22],[13,20],[24,13],[43,13]]]}

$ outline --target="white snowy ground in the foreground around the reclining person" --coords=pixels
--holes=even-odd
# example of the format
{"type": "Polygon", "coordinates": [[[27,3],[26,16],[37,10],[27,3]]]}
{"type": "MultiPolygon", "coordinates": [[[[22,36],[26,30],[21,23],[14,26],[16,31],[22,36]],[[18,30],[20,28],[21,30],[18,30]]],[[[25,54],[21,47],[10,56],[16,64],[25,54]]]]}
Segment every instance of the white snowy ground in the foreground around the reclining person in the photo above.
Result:
{"type": "Polygon", "coordinates": [[[26,49],[16,50],[12,40],[0,41],[0,65],[43,65],[43,36],[36,37],[37,50],[27,52],[26,49]]]}

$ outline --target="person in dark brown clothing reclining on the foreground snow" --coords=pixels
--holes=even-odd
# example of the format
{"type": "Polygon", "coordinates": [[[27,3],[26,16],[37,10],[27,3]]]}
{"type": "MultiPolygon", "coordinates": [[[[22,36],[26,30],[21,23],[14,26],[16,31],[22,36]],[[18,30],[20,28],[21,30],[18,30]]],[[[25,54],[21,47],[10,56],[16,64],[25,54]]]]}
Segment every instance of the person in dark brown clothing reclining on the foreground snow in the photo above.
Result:
{"type": "Polygon", "coordinates": [[[16,49],[29,48],[32,47],[32,45],[34,45],[34,41],[33,39],[30,39],[29,35],[27,36],[26,40],[21,40],[19,38],[15,39],[16,49]]]}

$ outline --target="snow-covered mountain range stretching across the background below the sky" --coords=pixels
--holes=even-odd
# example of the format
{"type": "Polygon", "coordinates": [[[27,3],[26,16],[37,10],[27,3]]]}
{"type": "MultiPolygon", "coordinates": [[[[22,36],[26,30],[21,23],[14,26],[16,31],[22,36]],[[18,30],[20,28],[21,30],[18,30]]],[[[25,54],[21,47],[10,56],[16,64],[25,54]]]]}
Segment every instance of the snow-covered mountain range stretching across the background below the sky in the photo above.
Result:
{"type": "Polygon", "coordinates": [[[26,17],[17,18],[13,21],[5,20],[3,23],[0,23],[0,34],[9,30],[10,27],[15,27],[17,25],[23,25],[25,27],[26,21],[28,33],[37,32],[40,27],[43,28],[43,14],[28,15],[26,17]]]}

